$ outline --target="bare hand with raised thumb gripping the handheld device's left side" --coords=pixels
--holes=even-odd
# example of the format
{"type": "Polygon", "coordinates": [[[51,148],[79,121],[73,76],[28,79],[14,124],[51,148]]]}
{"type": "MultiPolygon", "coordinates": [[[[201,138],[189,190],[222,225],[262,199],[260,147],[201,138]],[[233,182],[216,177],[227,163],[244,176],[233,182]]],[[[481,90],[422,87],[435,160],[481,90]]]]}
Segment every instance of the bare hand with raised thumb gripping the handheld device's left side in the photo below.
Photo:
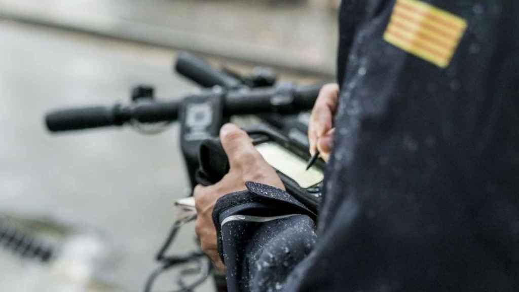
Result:
{"type": "Polygon", "coordinates": [[[214,185],[197,185],[193,195],[197,210],[195,231],[200,239],[202,251],[218,269],[224,270],[225,266],[218,256],[216,229],[212,220],[216,200],[228,193],[245,190],[246,181],[260,182],[283,190],[284,186],[274,168],[254,148],[245,131],[236,125],[226,124],[220,130],[220,140],[229,158],[230,170],[214,185]]]}

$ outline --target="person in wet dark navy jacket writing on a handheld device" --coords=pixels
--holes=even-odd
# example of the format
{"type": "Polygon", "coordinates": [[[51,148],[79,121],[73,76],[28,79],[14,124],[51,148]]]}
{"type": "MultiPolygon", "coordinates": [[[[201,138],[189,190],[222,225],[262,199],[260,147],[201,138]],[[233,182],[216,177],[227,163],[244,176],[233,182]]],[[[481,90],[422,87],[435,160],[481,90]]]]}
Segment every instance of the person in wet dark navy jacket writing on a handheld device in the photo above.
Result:
{"type": "Polygon", "coordinates": [[[310,152],[329,160],[316,228],[243,225],[267,240],[223,264],[217,238],[254,243],[215,229],[218,198],[223,214],[243,204],[226,194],[283,192],[232,124],[220,133],[229,173],[195,189],[202,249],[231,290],[517,291],[518,15],[514,0],[344,0],[338,85],[322,89],[309,124],[310,152]],[[263,257],[286,230],[287,255],[263,257]],[[283,265],[301,242],[305,256],[283,265]]]}

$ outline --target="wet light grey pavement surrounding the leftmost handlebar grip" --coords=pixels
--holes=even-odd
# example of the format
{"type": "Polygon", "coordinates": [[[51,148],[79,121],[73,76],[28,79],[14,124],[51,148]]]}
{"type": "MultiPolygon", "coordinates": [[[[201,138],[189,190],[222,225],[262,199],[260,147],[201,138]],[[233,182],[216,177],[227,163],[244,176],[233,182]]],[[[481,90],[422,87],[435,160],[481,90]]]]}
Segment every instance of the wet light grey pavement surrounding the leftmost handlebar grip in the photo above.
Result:
{"type": "MultiPolygon", "coordinates": [[[[168,98],[197,89],[172,75],[168,49],[11,21],[0,21],[0,39],[0,208],[99,230],[115,247],[115,282],[140,291],[173,221],[173,201],[188,188],[179,127],[155,136],[129,128],[51,135],[43,115],[127,101],[140,83],[168,98]]],[[[173,251],[194,247],[194,232],[185,230],[173,251]]],[[[28,291],[22,284],[31,268],[7,257],[0,249],[3,281],[11,274],[20,282],[15,292],[28,291]]]]}

